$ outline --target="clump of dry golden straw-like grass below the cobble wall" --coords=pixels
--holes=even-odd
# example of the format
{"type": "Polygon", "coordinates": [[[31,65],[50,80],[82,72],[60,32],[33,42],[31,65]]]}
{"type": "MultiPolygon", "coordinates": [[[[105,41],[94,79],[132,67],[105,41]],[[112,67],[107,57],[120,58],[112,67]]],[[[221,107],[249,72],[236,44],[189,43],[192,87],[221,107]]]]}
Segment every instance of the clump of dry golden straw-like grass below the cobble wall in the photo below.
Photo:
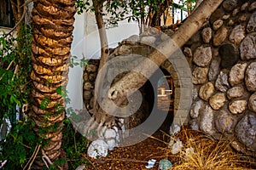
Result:
{"type": "Polygon", "coordinates": [[[168,138],[172,140],[179,138],[183,141],[183,148],[176,155],[172,155],[170,148],[162,148],[166,153],[165,158],[173,161],[172,170],[253,169],[253,162],[249,161],[249,156],[241,155],[230,147],[230,139],[217,141],[204,133],[184,127],[176,136],[168,136],[168,138]],[[188,148],[192,150],[189,153],[188,148]]]}

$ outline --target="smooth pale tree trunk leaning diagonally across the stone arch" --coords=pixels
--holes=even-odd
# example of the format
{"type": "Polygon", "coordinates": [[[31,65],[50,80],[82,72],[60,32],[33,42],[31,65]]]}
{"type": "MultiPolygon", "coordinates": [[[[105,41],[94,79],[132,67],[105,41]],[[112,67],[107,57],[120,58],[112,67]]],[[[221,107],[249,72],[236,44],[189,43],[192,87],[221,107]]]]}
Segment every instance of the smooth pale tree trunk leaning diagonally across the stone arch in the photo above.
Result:
{"type": "Polygon", "coordinates": [[[156,48],[157,50],[154,50],[154,52],[148,55],[148,59],[145,59],[137,65],[134,71],[127,73],[125,77],[122,77],[118,82],[114,83],[108,90],[108,98],[102,100],[100,113],[104,114],[104,119],[101,119],[102,116],[98,116],[98,113],[94,113],[94,117],[87,123],[84,133],[87,133],[89,129],[96,126],[96,123],[92,123],[93,120],[95,120],[99,126],[103,124],[112,126],[113,116],[111,115],[113,115],[114,111],[117,109],[115,105],[121,105],[126,97],[134,92],[134,89],[141,88],[148,80],[146,77],[152,76],[154,71],[166,60],[166,57],[170,58],[178,48],[182,47],[183,44],[201,28],[222,1],[223,0],[204,0],[183,25],[179,27],[175,34],[172,35],[171,39],[160,43],[156,48]],[[150,62],[148,61],[149,59],[151,60],[150,62]],[[154,63],[154,65],[152,63],[154,63]],[[113,105],[113,103],[115,103],[115,105],[113,105]],[[108,113],[105,111],[108,111],[108,113]]]}

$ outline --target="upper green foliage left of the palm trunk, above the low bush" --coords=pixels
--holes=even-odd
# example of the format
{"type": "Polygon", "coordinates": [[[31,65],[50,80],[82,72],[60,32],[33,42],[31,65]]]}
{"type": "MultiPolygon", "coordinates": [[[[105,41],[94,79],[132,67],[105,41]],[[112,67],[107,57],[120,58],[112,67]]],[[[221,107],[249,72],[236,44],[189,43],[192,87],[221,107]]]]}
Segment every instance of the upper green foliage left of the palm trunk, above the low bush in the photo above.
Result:
{"type": "Polygon", "coordinates": [[[0,36],[0,120],[29,99],[32,33],[27,25],[20,26],[20,31],[22,39],[4,33],[0,36]]]}

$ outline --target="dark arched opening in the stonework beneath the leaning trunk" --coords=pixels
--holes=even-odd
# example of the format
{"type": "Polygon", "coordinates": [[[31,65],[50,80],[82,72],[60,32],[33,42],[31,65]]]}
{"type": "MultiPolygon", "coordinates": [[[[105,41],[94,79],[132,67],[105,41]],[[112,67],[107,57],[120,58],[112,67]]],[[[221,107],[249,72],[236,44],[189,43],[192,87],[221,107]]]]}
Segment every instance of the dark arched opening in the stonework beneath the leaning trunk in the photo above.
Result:
{"type": "Polygon", "coordinates": [[[174,83],[172,76],[166,69],[160,68],[159,71],[150,77],[144,86],[144,99],[148,105],[144,114],[150,116],[152,111],[158,114],[166,114],[165,121],[161,124],[160,130],[169,133],[174,116],[174,83]],[[161,74],[160,74],[161,73],[161,74]],[[155,107],[156,109],[153,109],[155,107]]]}

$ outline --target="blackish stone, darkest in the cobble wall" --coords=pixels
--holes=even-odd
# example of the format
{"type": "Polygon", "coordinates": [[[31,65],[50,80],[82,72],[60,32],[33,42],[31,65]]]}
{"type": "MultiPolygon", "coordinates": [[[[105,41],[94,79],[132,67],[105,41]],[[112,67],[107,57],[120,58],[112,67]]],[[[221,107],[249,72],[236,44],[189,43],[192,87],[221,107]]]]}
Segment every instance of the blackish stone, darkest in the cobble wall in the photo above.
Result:
{"type": "Polygon", "coordinates": [[[239,55],[232,44],[221,45],[218,48],[218,54],[221,57],[220,66],[223,69],[232,67],[239,59],[239,55]]]}

